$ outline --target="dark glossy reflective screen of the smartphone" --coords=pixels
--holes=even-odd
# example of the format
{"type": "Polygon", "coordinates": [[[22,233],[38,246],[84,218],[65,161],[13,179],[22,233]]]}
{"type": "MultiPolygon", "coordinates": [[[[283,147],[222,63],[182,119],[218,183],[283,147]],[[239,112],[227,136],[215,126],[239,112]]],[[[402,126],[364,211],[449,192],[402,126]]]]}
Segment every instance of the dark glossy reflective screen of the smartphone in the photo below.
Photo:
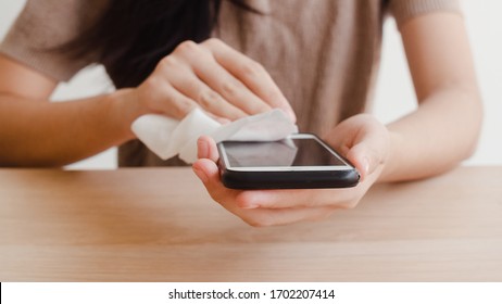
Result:
{"type": "Polygon", "coordinates": [[[224,142],[230,167],[347,166],[314,138],[267,142],[224,142]]]}

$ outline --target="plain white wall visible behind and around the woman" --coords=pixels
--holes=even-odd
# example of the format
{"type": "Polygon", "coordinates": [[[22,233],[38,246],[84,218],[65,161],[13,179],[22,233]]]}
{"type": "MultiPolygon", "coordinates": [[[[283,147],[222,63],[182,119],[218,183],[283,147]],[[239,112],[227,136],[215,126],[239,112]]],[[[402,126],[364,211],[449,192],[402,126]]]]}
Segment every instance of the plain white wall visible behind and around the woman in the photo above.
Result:
{"type": "MultiPolygon", "coordinates": [[[[25,0],[0,0],[0,38],[9,29],[25,0]]],[[[476,154],[468,165],[502,165],[502,1],[462,1],[467,30],[474,52],[478,80],[485,102],[485,122],[476,154]]],[[[385,25],[381,69],[377,84],[375,114],[390,122],[415,107],[413,85],[406,67],[396,24],[385,25]]],[[[68,100],[93,96],[111,89],[101,67],[80,72],[68,84],[58,87],[53,99],[68,100]]],[[[110,149],[72,168],[115,168],[116,149],[110,149]]]]}

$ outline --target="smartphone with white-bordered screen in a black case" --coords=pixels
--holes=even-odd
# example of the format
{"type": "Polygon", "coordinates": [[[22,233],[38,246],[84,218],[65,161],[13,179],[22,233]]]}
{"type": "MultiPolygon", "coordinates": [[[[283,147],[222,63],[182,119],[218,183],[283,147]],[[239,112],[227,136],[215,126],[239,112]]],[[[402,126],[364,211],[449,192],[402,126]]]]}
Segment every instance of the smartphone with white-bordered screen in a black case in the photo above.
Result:
{"type": "Polygon", "coordinates": [[[348,188],[355,167],[312,134],[279,141],[223,141],[217,144],[223,185],[231,189],[348,188]]]}

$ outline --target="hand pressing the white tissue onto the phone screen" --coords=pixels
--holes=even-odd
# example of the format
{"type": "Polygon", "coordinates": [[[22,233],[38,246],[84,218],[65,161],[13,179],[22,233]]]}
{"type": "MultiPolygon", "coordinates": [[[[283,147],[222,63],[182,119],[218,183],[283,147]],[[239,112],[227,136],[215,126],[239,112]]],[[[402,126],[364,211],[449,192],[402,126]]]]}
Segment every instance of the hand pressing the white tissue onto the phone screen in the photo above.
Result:
{"type": "Polygon", "coordinates": [[[180,43],[129,92],[138,105],[137,117],[155,113],[180,119],[200,106],[215,118],[235,121],[277,107],[296,121],[268,73],[214,38],[180,43]]]}

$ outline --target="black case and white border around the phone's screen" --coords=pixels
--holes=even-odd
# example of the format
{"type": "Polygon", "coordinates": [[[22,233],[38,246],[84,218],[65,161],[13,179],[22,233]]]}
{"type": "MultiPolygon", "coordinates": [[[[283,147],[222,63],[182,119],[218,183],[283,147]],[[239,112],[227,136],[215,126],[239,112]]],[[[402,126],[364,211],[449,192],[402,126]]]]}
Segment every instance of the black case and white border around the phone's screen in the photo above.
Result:
{"type": "MultiPolygon", "coordinates": [[[[317,136],[312,134],[296,134],[294,136],[309,136],[318,140],[332,154],[341,159],[347,166],[344,169],[316,169],[316,170],[235,170],[225,164],[223,145],[217,144],[219,152],[219,176],[225,187],[230,189],[321,189],[321,188],[349,188],[355,187],[360,180],[357,169],[317,136]]],[[[250,142],[252,144],[252,142],[250,142]]]]}

